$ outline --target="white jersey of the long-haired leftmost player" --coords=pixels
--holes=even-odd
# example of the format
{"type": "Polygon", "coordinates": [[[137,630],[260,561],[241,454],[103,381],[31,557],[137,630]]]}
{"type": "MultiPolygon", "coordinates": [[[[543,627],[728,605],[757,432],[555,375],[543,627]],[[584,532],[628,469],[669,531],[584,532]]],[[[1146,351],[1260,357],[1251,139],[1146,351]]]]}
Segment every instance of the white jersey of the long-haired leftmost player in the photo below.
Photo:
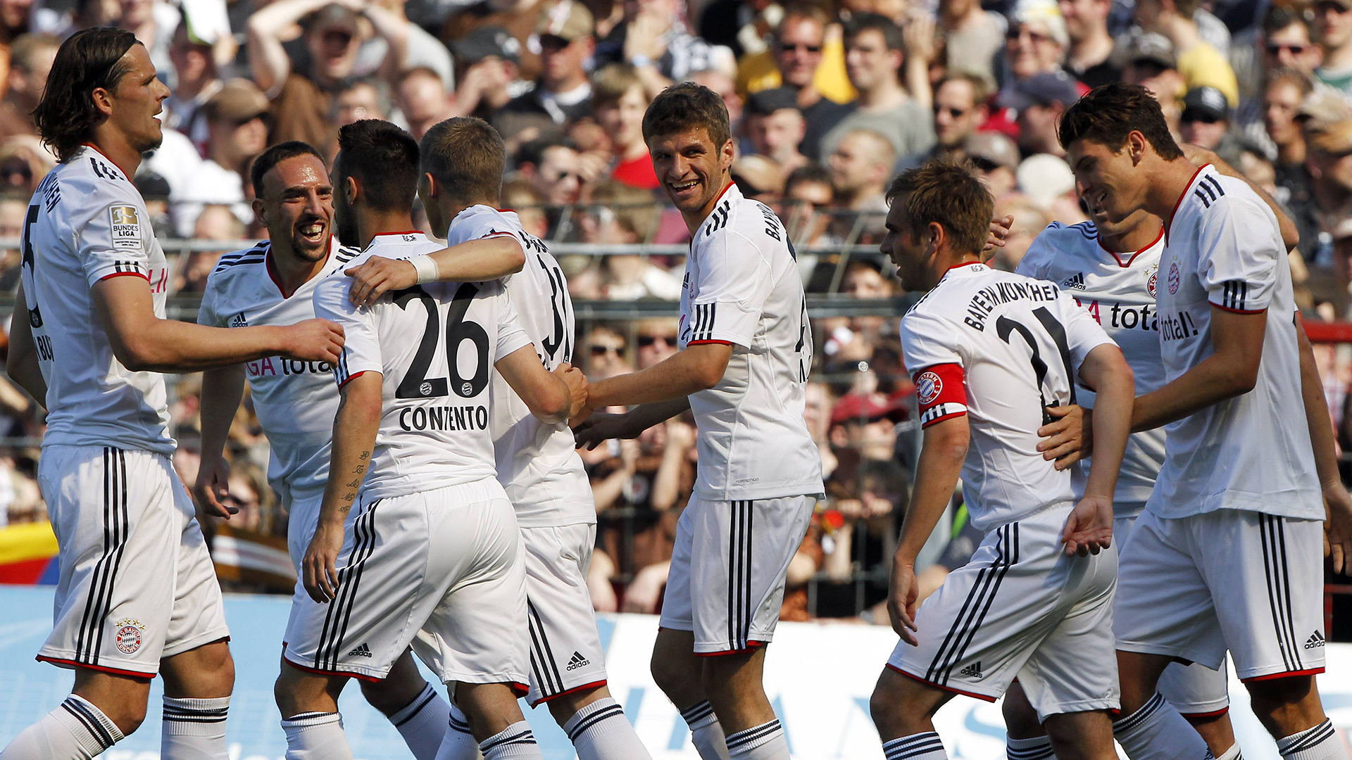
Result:
{"type": "Polygon", "coordinates": [[[112,161],[81,147],[42,180],[23,224],[23,292],[47,381],[43,446],[173,454],[164,376],[123,366],[93,307],[95,283],[123,275],[150,281],[162,319],[169,269],[146,204],[112,161]]]}

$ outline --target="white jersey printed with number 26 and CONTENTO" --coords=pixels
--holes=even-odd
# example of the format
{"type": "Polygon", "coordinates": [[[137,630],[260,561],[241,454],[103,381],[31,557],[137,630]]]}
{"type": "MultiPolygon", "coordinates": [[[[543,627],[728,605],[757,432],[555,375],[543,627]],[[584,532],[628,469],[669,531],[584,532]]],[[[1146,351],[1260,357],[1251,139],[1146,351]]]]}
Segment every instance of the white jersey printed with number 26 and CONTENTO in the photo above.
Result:
{"type": "MultiPolygon", "coordinates": [[[[377,235],[372,256],[404,260],[442,246],[422,233],[377,235]]],[[[493,364],[530,345],[502,283],[427,283],[370,307],[347,300],[341,270],[315,287],[315,315],[346,334],[334,376],[342,387],[380,372],[384,403],[365,500],[404,496],[496,475],[488,430],[493,364]]]]}

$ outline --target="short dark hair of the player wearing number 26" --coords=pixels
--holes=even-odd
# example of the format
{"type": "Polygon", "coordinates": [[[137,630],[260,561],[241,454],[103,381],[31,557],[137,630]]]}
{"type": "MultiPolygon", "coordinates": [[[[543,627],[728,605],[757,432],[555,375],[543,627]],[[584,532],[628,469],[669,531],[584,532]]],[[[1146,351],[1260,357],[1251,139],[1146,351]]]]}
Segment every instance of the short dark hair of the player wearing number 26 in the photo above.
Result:
{"type": "Polygon", "coordinates": [[[366,206],[379,211],[408,211],[418,195],[418,141],[396,124],[361,119],[338,130],[334,184],[346,177],[361,183],[366,206]]]}

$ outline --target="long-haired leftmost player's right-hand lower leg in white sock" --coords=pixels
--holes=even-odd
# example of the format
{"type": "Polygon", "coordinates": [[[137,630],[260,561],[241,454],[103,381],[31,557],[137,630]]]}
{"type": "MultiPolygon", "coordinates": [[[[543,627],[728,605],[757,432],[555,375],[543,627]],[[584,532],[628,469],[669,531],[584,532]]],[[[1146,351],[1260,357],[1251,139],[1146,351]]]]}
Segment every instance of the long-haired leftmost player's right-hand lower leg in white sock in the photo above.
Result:
{"type": "Polygon", "coordinates": [[[230,645],[212,641],[165,657],[164,722],[160,755],[165,760],[224,760],[226,715],[235,686],[230,645]]]}

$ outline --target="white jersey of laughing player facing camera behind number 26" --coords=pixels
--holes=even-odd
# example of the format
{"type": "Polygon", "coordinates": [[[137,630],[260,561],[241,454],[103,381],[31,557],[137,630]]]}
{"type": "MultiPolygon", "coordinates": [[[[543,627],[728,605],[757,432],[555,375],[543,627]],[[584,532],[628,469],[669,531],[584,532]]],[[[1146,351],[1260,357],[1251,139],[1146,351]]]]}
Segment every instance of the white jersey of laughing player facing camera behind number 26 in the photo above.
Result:
{"type": "MultiPolygon", "coordinates": [[[[295,325],[315,316],[315,285],[342,272],[358,250],[330,238],[329,260],[314,277],[287,293],[273,276],[272,243],[227,253],[207,277],[197,323],[212,327],[295,325]]],[[[245,365],[258,423],[272,446],[268,483],[292,504],[323,495],[338,391],[327,361],[260,358],[245,365]]]]}

